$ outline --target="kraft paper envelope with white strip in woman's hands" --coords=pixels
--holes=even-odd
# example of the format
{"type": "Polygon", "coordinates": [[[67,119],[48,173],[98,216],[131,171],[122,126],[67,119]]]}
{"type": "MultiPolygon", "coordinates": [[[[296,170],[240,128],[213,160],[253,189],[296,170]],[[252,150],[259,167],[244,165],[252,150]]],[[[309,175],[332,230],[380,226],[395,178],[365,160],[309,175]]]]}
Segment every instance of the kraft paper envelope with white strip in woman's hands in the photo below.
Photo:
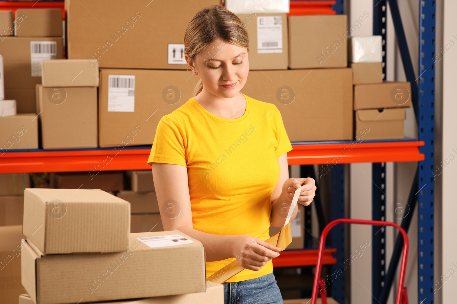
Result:
{"type": "MultiPolygon", "coordinates": [[[[295,211],[295,206],[297,206],[298,197],[300,196],[301,190],[302,187],[295,190],[284,227],[276,235],[271,236],[271,238],[265,241],[270,245],[281,248],[281,251],[286,249],[287,246],[289,246],[289,244],[292,242],[292,234],[290,232],[290,218],[295,211]]],[[[219,269],[217,272],[213,273],[207,278],[207,281],[222,284],[229,278],[232,278],[235,274],[241,272],[243,269],[244,268],[239,265],[238,260],[235,260],[225,267],[219,269]]]]}

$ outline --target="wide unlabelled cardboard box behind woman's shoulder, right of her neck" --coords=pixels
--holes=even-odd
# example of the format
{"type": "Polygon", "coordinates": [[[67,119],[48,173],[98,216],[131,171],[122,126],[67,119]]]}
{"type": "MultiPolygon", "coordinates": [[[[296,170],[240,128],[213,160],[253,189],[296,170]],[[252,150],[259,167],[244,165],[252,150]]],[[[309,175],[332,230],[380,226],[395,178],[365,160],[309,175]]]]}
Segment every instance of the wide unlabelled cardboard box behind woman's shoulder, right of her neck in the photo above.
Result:
{"type": "Polygon", "coordinates": [[[350,68],[251,71],[241,92],[276,105],[291,142],[352,139],[350,68]]]}

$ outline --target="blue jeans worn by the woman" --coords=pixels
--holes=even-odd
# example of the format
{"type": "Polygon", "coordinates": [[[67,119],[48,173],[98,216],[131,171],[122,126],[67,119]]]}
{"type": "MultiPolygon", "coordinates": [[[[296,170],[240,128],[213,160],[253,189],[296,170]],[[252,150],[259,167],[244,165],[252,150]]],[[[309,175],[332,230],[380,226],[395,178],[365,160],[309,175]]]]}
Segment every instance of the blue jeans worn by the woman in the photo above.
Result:
{"type": "Polygon", "coordinates": [[[273,273],[223,285],[224,304],[283,304],[273,273]]]}

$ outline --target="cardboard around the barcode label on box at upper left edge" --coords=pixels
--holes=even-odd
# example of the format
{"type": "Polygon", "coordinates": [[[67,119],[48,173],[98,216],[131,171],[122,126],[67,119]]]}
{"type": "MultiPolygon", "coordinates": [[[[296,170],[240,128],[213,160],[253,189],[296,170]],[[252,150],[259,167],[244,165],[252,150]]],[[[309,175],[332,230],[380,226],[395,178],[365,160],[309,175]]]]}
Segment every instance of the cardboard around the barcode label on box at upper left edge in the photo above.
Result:
{"type": "MultiPolygon", "coordinates": [[[[27,19],[27,18],[26,18],[27,19]]],[[[57,42],[57,59],[64,58],[64,41],[59,37],[5,37],[0,43],[5,69],[5,99],[17,101],[17,113],[35,113],[35,85],[40,77],[32,77],[30,42],[57,42]]]]}

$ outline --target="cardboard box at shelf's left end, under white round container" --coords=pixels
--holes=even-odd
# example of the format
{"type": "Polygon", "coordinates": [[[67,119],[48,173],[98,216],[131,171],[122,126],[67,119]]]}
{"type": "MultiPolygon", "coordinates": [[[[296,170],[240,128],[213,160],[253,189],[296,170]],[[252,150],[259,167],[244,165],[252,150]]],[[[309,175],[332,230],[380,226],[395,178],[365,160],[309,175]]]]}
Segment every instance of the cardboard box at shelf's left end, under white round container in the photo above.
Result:
{"type": "Polygon", "coordinates": [[[0,156],[8,150],[38,149],[36,117],[36,114],[0,117],[0,156]]]}

